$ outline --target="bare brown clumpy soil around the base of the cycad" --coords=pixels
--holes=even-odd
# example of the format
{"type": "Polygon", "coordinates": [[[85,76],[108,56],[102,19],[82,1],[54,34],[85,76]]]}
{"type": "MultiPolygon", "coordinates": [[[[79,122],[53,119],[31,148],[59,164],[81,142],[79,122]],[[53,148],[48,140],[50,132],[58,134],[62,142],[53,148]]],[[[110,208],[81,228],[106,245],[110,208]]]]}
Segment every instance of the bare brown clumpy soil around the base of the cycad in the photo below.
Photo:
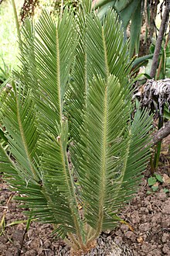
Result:
{"type": "MultiPolygon", "coordinates": [[[[158,173],[164,178],[158,184],[158,191],[151,192],[148,186],[150,169],[138,194],[124,207],[121,213],[126,223],[116,230],[101,234],[98,244],[114,241],[119,247],[128,248],[126,253],[118,255],[134,256],[170,256],[170,137],[165,139],[158,173]],[[165,193],[165,189],[169,192],[165,193]]],[[[32,221],[28,232],[26,223],[8,224],[16,220],[27,220],[19,209],[19,203],[13,200],[11,192],[0,178],[0,222],[5,217],[5,229],[0,236],[0,256],[54,256],[69,255],[69,247],[52,235],[52,227],[32,221]]],[[[0,223],[1,224],[1,223],[0,223]]],[[[110,242],[109,242],[110,243],[110,242]]],[[[92,255],[92,254],[90,254],[92,255]]],[[[108,255],[104,251],[93,251],[93,255],[108,255]]],[[[114,256],[115,254],[109,254],[114,256]]]]}

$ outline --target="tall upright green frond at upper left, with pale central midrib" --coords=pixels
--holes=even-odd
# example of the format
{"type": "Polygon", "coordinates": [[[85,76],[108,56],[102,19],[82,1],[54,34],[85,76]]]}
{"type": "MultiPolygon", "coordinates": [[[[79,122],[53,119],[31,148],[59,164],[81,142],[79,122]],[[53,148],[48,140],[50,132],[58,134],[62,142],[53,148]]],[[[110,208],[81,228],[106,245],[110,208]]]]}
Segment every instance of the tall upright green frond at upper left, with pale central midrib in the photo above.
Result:
{"type": "Polygon", "coordinates": [[[42,112],[42,122],[46,120],[45,123],[52,127],[55,122],[60,123],[63,116],[63,96],[70,81],[76,42],[76,23],[72,14],[64,12],[57,24],[49,14],[42,14],[36,25],[34,47],[39,80],[37,105],[42,112]]]}

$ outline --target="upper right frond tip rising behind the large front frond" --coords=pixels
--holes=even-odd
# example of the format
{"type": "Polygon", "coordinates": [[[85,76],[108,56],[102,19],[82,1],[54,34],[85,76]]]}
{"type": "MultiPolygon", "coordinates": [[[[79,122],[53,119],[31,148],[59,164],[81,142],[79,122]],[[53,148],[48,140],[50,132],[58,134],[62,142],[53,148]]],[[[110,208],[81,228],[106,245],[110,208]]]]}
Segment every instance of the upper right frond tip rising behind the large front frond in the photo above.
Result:
{"type": "Polygon", "coordinates": [[[127,80],[128,43],[124,43],[124,31],[114,11],[108,11],[102,24],[95,14],[87,17],[87,53],[92,74],[103,78],[114,74],[127,80]]]}

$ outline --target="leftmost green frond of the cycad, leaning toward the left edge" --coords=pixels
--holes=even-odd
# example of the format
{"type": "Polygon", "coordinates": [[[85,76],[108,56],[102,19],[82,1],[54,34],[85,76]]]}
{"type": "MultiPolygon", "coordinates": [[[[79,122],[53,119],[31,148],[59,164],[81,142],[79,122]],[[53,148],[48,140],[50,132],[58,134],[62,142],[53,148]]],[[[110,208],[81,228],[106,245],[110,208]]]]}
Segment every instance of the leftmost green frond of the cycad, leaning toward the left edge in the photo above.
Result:
{"type": "Polygon", "coordinates": [[[12,85],[0,108],[1,123],[8,139],[8,144],[0,147],[0,168],[13,189],[25,195],[18,198],[26,202],[25,207],[33,208],[33,213],[41,216],[41,220],[41,211],[46,209],[46,219],[50,220],[52,214],[40,184],[35,105],[30,91],[22,88],[21,82],[12,81],[12,85]]]}

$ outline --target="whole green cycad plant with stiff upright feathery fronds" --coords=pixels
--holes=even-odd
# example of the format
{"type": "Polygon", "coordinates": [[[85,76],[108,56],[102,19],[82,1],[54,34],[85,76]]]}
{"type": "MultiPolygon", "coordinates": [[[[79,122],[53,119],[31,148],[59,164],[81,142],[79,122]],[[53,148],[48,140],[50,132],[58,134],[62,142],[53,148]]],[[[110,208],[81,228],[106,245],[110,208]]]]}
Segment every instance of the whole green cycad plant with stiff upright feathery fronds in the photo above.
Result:
{"type": "Polygon", "coordinates": [[[145,170],[151,128],[147,113],[132,115],[131,61],[117,16],[109,11],[101,23],[90,2],[57,22],[46,12],[36,26],[26,20],[20,70],[1,94],[8,144],[0,171],[74,254],[120,220],[145,170]]]}

